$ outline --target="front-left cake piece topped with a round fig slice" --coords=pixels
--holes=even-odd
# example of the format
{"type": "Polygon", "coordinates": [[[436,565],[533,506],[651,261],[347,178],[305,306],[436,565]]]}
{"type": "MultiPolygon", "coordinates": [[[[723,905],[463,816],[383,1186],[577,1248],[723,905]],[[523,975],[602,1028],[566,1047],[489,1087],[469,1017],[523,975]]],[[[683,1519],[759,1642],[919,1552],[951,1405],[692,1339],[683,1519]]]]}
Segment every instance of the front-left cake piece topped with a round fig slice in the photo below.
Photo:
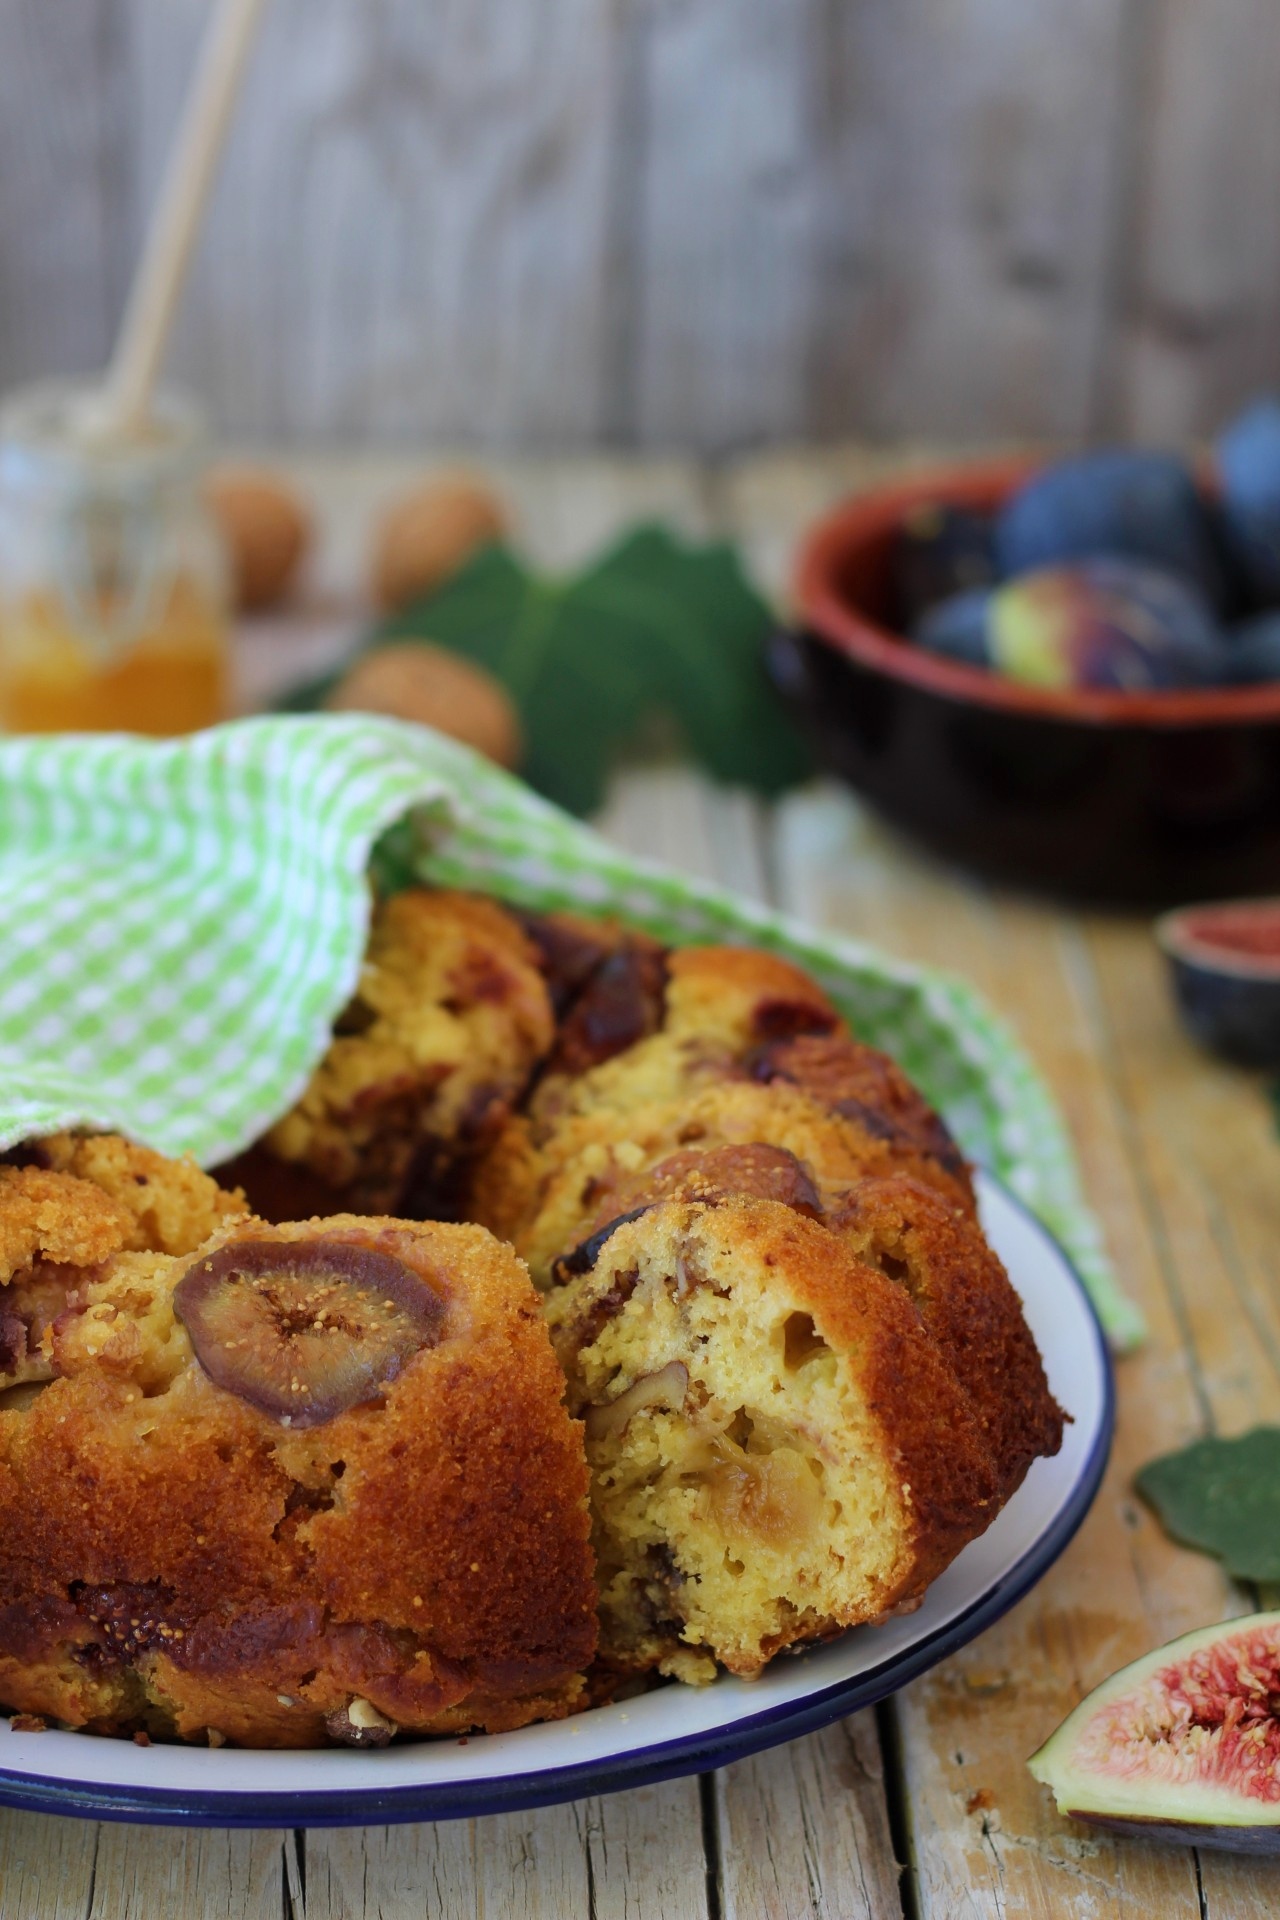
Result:
{"type": "Polygon", "coordinates": [[[273,1747],[568,1713],[587,1475],[512,1252],[157,1156],[140,1210],[130,1156],[0,1167],[0,1701],[273,1747]]]}

